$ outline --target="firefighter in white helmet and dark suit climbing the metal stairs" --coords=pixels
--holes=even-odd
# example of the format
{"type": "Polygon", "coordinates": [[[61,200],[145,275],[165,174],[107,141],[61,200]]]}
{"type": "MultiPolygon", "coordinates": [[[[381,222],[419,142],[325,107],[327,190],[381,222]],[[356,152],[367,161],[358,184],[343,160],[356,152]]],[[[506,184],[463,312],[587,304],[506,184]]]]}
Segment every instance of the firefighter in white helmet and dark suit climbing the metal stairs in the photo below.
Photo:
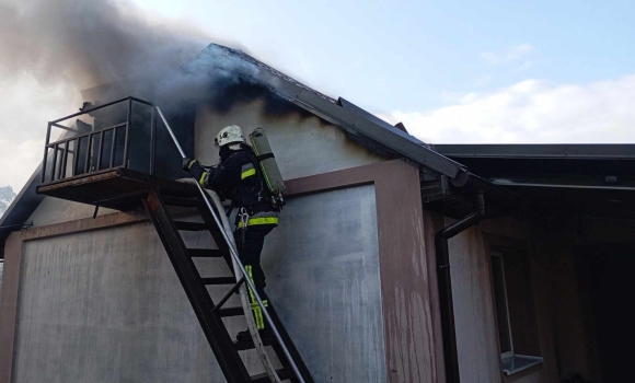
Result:
{"type": "MultiPolygon", "coordinates": [[[[246,144],[242,129],[238,125],[224,127],[216,136],[215,144],[219,147],[220,163],[204,169],[197,160],[183,159],[183,169],[188,171],[200,186],[213,189],[220,196],[231,199],[238,208],[234,240],[241,262],[252,279],[265,306],[265,274],[261,267],[261,253],[265,236],[278,225],[279,209],[268,204],[268,189],[264,184],[262,172],[252,151],[246,144]]],[[[250,300],[256,326],[262,337],[270,337],[265,326],[264,315],[251,291],[250,300]]],[[[249,330],[240,332],[238,340],[249,340],[249,330]]]]}

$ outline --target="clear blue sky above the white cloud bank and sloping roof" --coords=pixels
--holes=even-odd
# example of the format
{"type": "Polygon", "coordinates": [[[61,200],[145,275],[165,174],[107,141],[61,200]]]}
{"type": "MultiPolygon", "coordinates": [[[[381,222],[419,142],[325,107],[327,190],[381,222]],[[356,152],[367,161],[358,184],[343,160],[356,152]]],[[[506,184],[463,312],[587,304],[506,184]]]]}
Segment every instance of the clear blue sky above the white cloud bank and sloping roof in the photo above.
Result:
{"type": "Polygon", "coordinates": [[[135,1],[384,113],[526,79],[614,79],[635,63],[633,1],[135,1]],[[521,45],[531,49],[510,57],[521,45]]]}

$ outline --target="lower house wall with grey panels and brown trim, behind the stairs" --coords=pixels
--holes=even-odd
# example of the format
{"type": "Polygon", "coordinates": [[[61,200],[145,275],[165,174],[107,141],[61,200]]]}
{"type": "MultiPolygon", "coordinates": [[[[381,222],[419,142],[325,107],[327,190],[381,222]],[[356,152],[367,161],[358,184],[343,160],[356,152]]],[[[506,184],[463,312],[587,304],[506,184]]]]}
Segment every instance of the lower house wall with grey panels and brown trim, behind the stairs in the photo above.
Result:
{"type": "MultiPolygon", "coordinates": [[[[399,160],[288,182],[289,206],[270,237],[288,240],[282,247],[268,241],[265,269],[272,299],[285,307],[278,313],[318,376],[391,383],[441,379],[419,183],[418,170],[399,160]],[[322,279],[328,283],[320,286],[322,279]],[[292,293],[297,301],[275,298],[280,293],[292,293]]],[[[198,324],[187,314],[192,309],[184,297],[178,298],[182,289],[165,266],[147,214],[103,214],[15,235],[5,247],[12,271],[11,288],[3,290],[9,299],[0,305],[0,337],[8,339],[0,382],[10,382],[11,375],[34,381],[32,370],[50,373],[51,381],[72,380],[80,370],[96,381],[124,381],[120,376],[153,369],[165,376],[181,371],[192,381],[213,378],[211,368],[201,367],[213,358],[197,344],[203,339],[193,329],[198,324]],[[67,321],[72,330],[64,328],[67,321]],[[56,339],[58,334],[66,338],[56,339]],[[65,352],[56,351],[59,345],[65,352]],[[175,350],[162,357],[173,364],[154,361],[164,348],[175,350]],[[67,359],[69,368],[59,367],[67,359]],[[113,365],[126,371],[113,378],[113,365]]],[[[208,244],[196,241],[203,240],[186,239],[190,246],[208,244]]],[[[198,266],[204,275],[221,271],[198,266]]],[[[220,293],[212,291],[217,298],[220,293]]],[[[230,325],[230,330],[243,327],[230,325]]]]}

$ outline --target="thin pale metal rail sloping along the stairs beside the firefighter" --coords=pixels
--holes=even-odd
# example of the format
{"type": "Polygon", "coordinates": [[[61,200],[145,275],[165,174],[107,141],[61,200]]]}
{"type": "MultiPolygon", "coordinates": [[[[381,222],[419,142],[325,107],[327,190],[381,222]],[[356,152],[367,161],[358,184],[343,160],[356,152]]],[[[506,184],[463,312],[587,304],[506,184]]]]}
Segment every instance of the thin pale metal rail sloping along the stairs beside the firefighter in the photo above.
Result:
{"type": "MultiPolygon", "coordinates": [[[[172,138],[172,141],[174,141],[174,144],[176,146],[176,149],[178,150],[178,153],[181,154],[182,159],[185,159],[185,152],[183,151],[183,148],[181,147],[181,143],[178,143],[178,139],[176,138],[176,136],[174,135],[174,131],[172,130],[172,128],[170,127],[170,124],[168,124],[168,120],[165,119],[165,116],[163,116],[163,112],[161,112],[161,108],[159,106],[154,106],[157,108],[157,112],[159,114],[159,117],[161,117],[161,120],[163,121],[163,125],[165,126],[165,129],[168,129],[168,132],[170,134],[170,137],[172,138]]],[[[192,178],[194,179],[194,177],[192,178]]],[[[207,193],[203,189],[203,187],[200,186],[200,184],[198,183],[197,179],[194,179],[196,187],[198,188],[198,192],[200,193],[200,196],[203,197],[205,205],[207,206],[207,209],[209,210],[209,212],[211,213],[213,221],[216,222],[217,227],[220,229],[220,233],[223,236],[224,241],[227,242],[228,246],[229,246],[229,251],[230,254],[233,258],[233,260],[235,262],[235,264],[238,265],[238,267],[240,268],[243,277],[245,278],[245,282],[247,283],[247,286],[250,287],[250,289],[252,289],[252,292],[254,293],[254,298],[256,299],[256,302],[258,304],[258,306],[261,307],[265,320],[267,321],[267,324],[270,326],[272,330],[274,332],[274,336],[276,337],[276,339],[278,340],[278,344],[280,345],[280,348],[282,349],[282,352],[285,353],[285,357],[287,358],[287,360],[289,361],[289,364],[291,364],[291,369],[293,370],[293,373],[296,374],[296,378],[298,379],[298,381],[300,383],[305,383],[303,375],[300,373],[300,370],[298,369],[298,364],[296,363],[296,360],[293,359],[293,357],[291,356],[291,352],[289,351],[289,349],[287,348],[287,345],[285,344],[282,336],[280,335],[280,332],[278,330],[278,328],[276,327],[276,325],[274,324],[274,321],[272,320],[269,313],[267,312],[265,304],[263,303],[263,300],[261,299],[261,295],[257,293],[256,291],[256,287],[254,286],[253,281],[251,280],[251,278],[249,277],[249,274],[244,267],[244,265],[242,264],[242,262],[240,260],[238,251],[235,248],[235,246],[233,246],[231,239],[228,236],[227,232],[224,230],[222,230],[222,223],[217,214],[217,212],[215,211],[211,201],[209,200],[209,196],[207,195],[207,193]]]]}

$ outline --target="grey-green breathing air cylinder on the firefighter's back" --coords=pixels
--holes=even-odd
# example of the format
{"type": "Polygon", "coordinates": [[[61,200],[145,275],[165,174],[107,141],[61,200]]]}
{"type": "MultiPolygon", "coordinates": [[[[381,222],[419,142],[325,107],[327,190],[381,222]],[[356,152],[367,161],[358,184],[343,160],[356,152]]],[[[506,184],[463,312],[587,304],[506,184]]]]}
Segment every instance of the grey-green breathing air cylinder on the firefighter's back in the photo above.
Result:
{"type": "Polygon", "coordinates": [[[261,166],[263,173],[263,178],[265,179],[266,187],[272,193],[273,202],[282,207],[285,198],[285,181],[280,174],[280,169],[272,151],[272,146],[265,134],[265,129],[257,128],[250,135],[250,140],[252,142],[252,149],[254,154],[256,154],[256,160],[261,166]]]}

